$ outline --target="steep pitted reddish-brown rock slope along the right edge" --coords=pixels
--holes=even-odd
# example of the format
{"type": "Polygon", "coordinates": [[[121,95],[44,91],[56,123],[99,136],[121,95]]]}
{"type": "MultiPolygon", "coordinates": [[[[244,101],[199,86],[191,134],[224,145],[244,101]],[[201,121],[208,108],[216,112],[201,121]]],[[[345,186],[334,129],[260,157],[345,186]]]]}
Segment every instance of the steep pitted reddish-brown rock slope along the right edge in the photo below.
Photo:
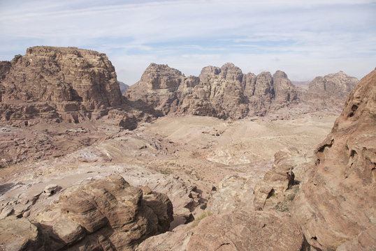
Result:
{"type": "Polygon", "coordinates": [[[305,238],[323,250],[376,246],[376,70],[350,93],[294,200],[305,238]]]}

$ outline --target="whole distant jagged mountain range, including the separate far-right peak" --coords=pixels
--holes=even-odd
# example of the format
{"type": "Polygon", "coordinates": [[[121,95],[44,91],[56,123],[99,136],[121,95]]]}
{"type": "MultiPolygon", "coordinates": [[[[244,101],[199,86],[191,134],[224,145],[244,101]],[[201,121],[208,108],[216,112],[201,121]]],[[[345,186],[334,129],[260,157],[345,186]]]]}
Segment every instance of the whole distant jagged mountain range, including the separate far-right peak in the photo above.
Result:
{"type": "Polygon", "coordinates": [[[207,66],[198,77],[185,77],[179,70],[152,63],[124,96],[130,106],[154,116],[191,114],[240,119],[268,115],[270,119],[287,119],[291,114],[339,113],[357,82],[355,77],[340,72],[316,77],[309,86],[308,82],[295,86],[280,70],[274,75],[243,74],[232,63],[221,68],[207,66]]]}

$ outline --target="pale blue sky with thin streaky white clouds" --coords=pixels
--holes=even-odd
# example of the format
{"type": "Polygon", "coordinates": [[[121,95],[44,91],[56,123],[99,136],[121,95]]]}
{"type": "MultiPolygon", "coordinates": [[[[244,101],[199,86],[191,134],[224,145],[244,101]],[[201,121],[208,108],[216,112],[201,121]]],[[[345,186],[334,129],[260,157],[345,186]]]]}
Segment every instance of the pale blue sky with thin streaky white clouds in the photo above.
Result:
{"type": "Polygon", "coordinates": [[[36,45],[96,50],[129,85],[152,62],[296,81],[376,67],[376,0],[0,0],[0,33],[0,61],[36,45]]]}

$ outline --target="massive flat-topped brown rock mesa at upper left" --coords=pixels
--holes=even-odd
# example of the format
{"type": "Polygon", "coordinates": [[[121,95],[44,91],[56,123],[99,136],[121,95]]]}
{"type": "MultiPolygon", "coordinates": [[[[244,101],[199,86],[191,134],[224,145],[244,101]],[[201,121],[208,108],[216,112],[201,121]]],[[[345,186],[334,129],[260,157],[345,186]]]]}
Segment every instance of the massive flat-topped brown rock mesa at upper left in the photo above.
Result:
{"type": "Polygon", "coordinates": [[[83,112],[80,115],[90,119],[93,112],[102,116],[108,107],[122,105],[115,68],[106,54],[37,46],[15,56],[8,66],[0,65],[2,105],[43,102],[63,119],[64,112],[83,112]]]}

